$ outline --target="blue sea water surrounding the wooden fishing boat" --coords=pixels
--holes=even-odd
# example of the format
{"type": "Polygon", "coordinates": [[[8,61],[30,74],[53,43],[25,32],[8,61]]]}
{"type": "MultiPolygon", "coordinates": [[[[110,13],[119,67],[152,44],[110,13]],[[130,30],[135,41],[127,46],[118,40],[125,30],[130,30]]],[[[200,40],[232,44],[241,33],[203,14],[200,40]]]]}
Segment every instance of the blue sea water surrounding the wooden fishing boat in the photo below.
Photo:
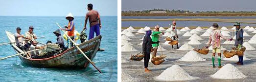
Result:
{"type": "MultiPolygon", "coordinates": [[[[81,32],[84,26],[84,16],[75,16],[75,30],[81,32]]],[[[22,34],[32,25],[39,42],[47,40],[56,42],[52,32],[68,24],[65,16],[0,16],[0,43],[9,42],[5,31],[16,33],[16,27],[21,27],[22,34]]],[[[36,68],[21,62],[19,57],[0,60],[0,82],[117,82],[117,16],[102,16],[102,35],[100,48],[93,62],[103,73],[90,65],[86,69],[36,68]]],[[[89,23],[87,25],[89,35],[89,23]]],[[[94,34],[95,35],[95,34],[94,34]]],[[[80,41],[78,41],[80,43],[80,41]]],[[[0,46],[0,58],[16,54],[10,45],[0,46]]]]}

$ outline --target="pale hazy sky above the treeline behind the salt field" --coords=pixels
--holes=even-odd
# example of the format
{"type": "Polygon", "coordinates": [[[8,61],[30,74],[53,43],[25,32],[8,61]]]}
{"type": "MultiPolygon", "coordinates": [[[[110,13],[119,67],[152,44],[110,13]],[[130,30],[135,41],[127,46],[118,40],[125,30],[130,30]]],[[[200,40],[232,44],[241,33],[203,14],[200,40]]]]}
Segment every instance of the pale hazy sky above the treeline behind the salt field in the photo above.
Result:
{"type": "Polygon", "coordinates": [[[189,11],[256,11],[256,0],[122,0],[122,11],[153,8],[189,11]]]}

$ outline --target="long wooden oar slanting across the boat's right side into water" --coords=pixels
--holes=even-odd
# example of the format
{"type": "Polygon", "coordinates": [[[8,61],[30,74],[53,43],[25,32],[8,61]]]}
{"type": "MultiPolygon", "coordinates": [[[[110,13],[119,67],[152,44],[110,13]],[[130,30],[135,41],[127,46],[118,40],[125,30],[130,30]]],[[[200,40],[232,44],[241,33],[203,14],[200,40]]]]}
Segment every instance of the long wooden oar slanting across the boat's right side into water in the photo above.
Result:
{"type": "MultiPolygon", "coordinates": [[[[61,29],[61,26],[56,22],[56,24],[58,25],[58,27],[61,29]]],[[[94,66],[94,68],[96,68],[99,73],[101,73],[101,71],[94,65],[94,63],[85,55],[85,53],[75,44],[75,42],[70,38],[70,36],[68,34],[66,34],[63,30],[61,30],[65,35],[67,35],[67,37],[70,39],[70,41],[74,44],[74,46],[85,56],[85,58],[94,66]]]]}

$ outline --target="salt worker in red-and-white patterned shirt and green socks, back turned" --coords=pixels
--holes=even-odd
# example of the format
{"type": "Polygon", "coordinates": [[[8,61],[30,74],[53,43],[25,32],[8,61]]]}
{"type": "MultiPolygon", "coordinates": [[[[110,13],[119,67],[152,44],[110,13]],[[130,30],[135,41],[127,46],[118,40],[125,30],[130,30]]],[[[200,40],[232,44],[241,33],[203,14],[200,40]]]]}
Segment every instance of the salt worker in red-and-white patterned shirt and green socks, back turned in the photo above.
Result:
{"type": "Polygon", "coordinates": [[[206,47],[207,49],[210,46],[210,43],[212,43],[212,67],[214,68],[214,60],[215,60],[215,53],[218,53],[218,64],[219,64],[219,68],[221,68],[221,46],[220,46],[220,37],[225,39],[225,40],[229,40],[232,41],[233,38],[226,38],[224,37],[221,33],[220,30],[218,30],[219,25],[217,23],[213,23],[212,25],[213,28],[215,28],[213,31],[211,31],[210,36],[209,36],[209,41],[208,41],[208,46],[206,47]]]}

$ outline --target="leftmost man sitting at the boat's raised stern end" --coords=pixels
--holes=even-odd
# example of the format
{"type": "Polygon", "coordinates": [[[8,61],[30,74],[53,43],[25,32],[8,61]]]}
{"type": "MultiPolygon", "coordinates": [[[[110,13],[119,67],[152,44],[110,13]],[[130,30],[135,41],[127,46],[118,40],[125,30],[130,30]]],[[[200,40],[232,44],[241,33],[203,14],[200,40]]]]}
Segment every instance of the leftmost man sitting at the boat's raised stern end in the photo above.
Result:
{"type": "MultiPolygon", "coordinates": [[[[27,38],[21,34],[21,30],[22,29],[20,27],[17,27],[16,28],[17,33],[14,34],[14,37],[15,37],[16,46],[25,52],[25,51],[28,51],[28,44],[25,44],[26,46],[23,45],[23,38],[25,39],[27,38]]],[[[30,53],[26,54],[26,57],[30,57],[30,56],[31,56],[30,53]]]]}

